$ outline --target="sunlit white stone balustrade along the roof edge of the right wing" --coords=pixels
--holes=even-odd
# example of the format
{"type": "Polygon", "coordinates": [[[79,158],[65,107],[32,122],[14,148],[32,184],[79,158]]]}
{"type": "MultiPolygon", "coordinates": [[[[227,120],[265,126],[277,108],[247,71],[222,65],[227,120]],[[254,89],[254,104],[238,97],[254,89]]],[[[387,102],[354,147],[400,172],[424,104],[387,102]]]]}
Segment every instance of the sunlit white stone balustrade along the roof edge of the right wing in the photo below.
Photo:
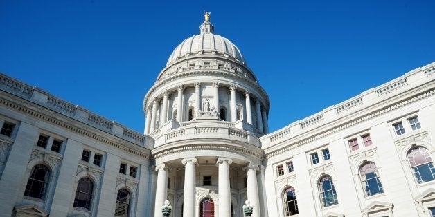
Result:
{"type": "Polygon", "coordinates": [[[371,88],[368,91],[364,91],[361,94],[335,106],[329,106],[319,113],[306,117],[301,121],[293,122],[292,124],[285,126],[283,129],[264,135],[260,138],[262,147],[267,148],[284,140],[289,140],[290,138],[301,135],[308,130],[312,130],[313,128],[311,126],[325,126],[330,122],[348,115],[350,111],[360,111],[384,100],[385,97],[394,97],[395,95],[402,93],[402,91],[430,82],[435,79],[435,76],[430,76],[434,71],[435,62],[411,70],[409,73],[406,73],[391,82],[387,82],[386,84],[382,84],[376,88],[371,88]],[[401,91],[398,91],[399,89],[401,91]]]}

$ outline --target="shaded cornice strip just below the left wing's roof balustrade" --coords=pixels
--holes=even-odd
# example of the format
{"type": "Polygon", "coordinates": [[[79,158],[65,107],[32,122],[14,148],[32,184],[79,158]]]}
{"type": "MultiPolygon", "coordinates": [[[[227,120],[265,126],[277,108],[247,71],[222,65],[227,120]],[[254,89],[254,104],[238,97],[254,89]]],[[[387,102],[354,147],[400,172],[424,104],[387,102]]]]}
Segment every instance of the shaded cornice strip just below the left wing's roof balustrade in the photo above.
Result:
{"type": "MultiPolygon", "coordinates": [[[[143,153],[141,151],[137,151],[134,149],[130,149],[129,147],[125,147],[122,144],[119,144],[117,142],[114,142],[113,140],[108,139],[107,137],[97,135],[96,133],[92,133],[90,131],[85,130],[82,127],[74,126],[73,124],[69,124],[67,122],[64,122],[62,120],[59,120],[55,117],[52,117],[50,115],[45,115],[42,112],[36,111],[34,109],[26,108],[25,106],[21,106],[19,104],[16,104],[15,102],[11,102],[10,100],[5,99],[3,96],[0,97],[0,104],[9,107],[10,109],[13,109],[15,111],[19,111],[21,113],[25,113],[26,115],[30,115],[32,117],[36,117],[39,120],[49,122],[51,124],[55,124],[56,126],[60,126],[63,129],[67,129],[69,131],[73,131],[74,133],[78,133],[82,136],[85,136],[87,138],[91,138],[93,140],[96,140],[98,142],[103,142],[105,144],[109,144],[112,147],[116,147],[117,149],[121,149],[123,151],[127,151],[128,153],[132,153],[134,155],[137,155],[141,158],[150,159],[150,154],[143,153]]],[[[76,120],[72,120],[72,122],[76,122],[76,120]]],[[[101,131],[104,132],[104,131],[101,131]]],[[[104,132],[105,133],[105,132],[104,132]]],[[[127,142],[127,141],[126,141],[127,142]]]]}

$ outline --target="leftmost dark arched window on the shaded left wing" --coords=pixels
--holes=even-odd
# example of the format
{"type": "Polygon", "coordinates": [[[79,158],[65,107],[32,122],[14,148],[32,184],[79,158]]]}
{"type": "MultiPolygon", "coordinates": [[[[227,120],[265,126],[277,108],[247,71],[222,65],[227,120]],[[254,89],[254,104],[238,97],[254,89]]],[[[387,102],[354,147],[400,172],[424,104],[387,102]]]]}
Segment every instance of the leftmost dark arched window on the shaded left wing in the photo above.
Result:
{"type": "Polygon", "coordinates": [[[48,169],[48,167],[44,165],[36,165],[33,167],[27,181],[24,196],[44,200],[49,178],[50,169],[48,169]]]}

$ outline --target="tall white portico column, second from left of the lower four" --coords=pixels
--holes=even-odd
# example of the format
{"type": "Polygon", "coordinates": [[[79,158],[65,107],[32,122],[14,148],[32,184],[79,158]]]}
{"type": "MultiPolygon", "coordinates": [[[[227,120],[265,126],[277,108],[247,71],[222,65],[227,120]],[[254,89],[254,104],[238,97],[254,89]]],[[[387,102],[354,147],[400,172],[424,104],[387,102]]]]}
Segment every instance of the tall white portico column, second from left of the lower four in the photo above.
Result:
{"type": "Polygon", "coordinates": [[[184,208],[183,216],[195,216],[195,194],[196,194],[196,158],[184,158],[184,208]]]}

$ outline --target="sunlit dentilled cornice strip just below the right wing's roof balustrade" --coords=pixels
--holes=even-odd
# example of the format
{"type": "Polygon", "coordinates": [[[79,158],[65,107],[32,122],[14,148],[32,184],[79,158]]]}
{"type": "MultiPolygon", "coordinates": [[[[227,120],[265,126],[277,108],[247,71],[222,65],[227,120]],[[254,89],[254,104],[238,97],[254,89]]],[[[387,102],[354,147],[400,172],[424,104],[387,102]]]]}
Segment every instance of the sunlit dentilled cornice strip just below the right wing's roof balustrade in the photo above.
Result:
{"type": "MultiPolygon", "coordinates": [[[[316,133],[314,135],[311,135],[309,138],[304,138],[304,139],[299,140],[297,142],[292,142],[291,144],[287,144],[284,147],[277,148],[276,147],[277,145],[274,145],[272,147],[265,149],[265,158],[271,158],[275,155],[285,153],[286,151],[296,149],[297,147],[301,147],[304,144],[308,144],[310,142],[314,142],[314,141],[319,140],[321,138],[325,138],[326,136],[332,135],[334,133],[338,133],[339,131],[344,131],[345,129],[348,129],[352,126],[355,126],[357,124],[361,124],[363,122],[372,120],[375,117],[379,117],[381,115],[391,113],[392,111],[396,111],[397,109],[400,109],[403,106],[413,104],[415,102],[418,102],[420,100],[424,100],[427,97],[432,97],[434,95],[435,95],[435,88],[432,87],[432,88],[424,91],[423,93],[419,93],[419,94],[414,95],[412,97],[408,97],[407,99],[401,100],[400,102],[397,102],[395,104],[391,104],[389,106],[384,106],[382,109],[378,109],[378,110],[373,111],[369,114],[354,118],[353,120],[350,120],[350,121],[345,122],[343,124],[339,124],[338,126],[335,126],[333,128],[327,129],[326,131],[316,133]]],[[[281,142],[281,144],[283,144],[285,142],[286,141],[283,141],[283,142],[281,142]]]]}

